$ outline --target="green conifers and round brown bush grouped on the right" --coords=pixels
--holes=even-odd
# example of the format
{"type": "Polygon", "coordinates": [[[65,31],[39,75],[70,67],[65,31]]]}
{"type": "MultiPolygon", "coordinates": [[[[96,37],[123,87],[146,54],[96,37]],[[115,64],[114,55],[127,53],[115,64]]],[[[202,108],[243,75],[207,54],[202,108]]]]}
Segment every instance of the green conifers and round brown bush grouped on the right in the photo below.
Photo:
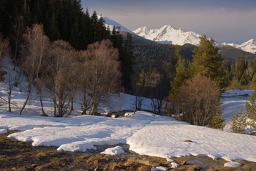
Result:
{"type": "MultiPolygon", "coordinates": [[[[180,47],[176,47],[179,48],[180,47]]],[[[192,50],[192,61],[174,56],[176,71],[171,82],[170,98],[179,117],[200,126],[223,127],[219,99],[227,89],[255,87],[255,61],[244,53],[235,63],[225,61],[214,39],[200,37],[199,47],[192,50]]],[[[256,57],[256,55],[255,55],[256,57]]]]}

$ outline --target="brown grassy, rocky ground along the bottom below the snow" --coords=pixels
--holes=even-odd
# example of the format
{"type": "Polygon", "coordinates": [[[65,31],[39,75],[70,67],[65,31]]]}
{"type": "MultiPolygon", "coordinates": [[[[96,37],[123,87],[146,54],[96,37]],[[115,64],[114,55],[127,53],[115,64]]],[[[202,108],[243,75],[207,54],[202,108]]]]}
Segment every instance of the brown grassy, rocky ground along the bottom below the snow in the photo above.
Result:
{"type": "Polygon", "coordinates": [[[254,162],[238,160],[242,167],[224,167],[227,161],[206,156],[173,158],[180,166],[171,169],[170,161],[132,153],[127,145],[122,145],[126,153],[116,156],[100,154],[109,146],[87,153],[61,152],[56,147],[33,147],[31,142],[13,140],[7,137],[10,133],[0,134],[0,170],[256,170],[254,162]]]}

